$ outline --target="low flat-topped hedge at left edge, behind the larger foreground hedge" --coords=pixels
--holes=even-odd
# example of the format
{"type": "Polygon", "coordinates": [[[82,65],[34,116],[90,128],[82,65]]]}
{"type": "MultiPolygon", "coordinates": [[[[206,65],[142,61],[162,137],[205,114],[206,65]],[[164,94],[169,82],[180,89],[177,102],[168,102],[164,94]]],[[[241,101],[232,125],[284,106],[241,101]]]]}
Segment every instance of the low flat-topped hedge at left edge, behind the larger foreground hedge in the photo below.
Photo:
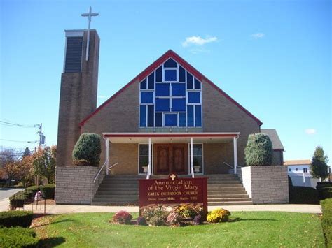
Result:
{"type": "Polygon", "coordinates": [[[0,212],[0,226],[22,226],[29,227],[32,222],[31,211],[4,211],[0,212]]]}

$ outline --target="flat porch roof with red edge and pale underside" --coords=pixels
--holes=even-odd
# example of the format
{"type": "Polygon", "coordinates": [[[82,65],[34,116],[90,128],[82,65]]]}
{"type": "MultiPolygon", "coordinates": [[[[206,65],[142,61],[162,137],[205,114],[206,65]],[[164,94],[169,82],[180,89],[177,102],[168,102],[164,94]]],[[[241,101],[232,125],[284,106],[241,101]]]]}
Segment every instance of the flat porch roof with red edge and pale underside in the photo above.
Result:
{"type": "Polygon", "coordinates": [[[103,133],[111,143],[228,143],[240,133],[103,133]]]}

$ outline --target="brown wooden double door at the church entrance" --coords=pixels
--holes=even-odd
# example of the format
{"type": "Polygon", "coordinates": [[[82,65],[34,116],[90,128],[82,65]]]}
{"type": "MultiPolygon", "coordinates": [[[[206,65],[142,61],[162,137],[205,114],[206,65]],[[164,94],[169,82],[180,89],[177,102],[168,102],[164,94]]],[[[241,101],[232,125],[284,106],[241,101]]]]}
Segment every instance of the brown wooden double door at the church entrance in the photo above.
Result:
{"type": "Polygon", "coordinates": [[[188,174],[188,144],[155,144],[153,173],[188,174]]]}

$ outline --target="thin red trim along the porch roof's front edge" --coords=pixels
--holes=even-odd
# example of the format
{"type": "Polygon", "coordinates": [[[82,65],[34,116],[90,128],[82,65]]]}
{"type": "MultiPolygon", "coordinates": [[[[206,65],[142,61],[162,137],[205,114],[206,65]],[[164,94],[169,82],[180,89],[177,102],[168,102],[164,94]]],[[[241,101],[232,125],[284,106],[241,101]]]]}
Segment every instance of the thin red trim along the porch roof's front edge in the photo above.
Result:
{"type": "Polygon", "coordinates": [[[104,134],[105,138],[155,138],[155,137],[237,137],[232,133],[130,133],[130,134],[104,134]]]}

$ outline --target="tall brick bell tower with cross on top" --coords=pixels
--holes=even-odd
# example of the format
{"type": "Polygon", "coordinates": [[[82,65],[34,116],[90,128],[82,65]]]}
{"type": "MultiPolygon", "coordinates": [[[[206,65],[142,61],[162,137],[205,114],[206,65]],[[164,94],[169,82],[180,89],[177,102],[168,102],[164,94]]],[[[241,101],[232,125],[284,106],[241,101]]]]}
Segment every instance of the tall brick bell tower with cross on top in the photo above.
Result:
{"type": "MultiPolygon", "coordinates": [[[[90,10],[90,14],[91,10],[90,10]]],[[[83,14],[85,16],[85,14],[83,14]]],[[[99,36],[94,29],[65,30],[61,75],[57,166],[71,166],[71,153],[81,130],[79,123],[97,107],[99,36]]]]}

